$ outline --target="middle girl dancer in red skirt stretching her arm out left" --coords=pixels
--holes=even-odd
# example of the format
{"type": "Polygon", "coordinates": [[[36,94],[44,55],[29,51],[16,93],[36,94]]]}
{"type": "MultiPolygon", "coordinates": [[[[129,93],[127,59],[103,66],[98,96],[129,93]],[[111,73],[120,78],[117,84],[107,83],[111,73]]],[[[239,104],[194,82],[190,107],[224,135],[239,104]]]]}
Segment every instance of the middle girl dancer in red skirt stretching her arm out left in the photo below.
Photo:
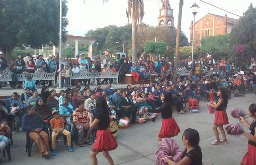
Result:
{"type": "Polygon", "coordinates": [[[172,117],[172,92],[164,92],[160,99],[163,101],[159,109],[146,109],[148,112],[162,112],[162,128],[158,134],[157,140],[160,142],[164,137],[174,137],[180,132],[180,128],[172,117]]]}

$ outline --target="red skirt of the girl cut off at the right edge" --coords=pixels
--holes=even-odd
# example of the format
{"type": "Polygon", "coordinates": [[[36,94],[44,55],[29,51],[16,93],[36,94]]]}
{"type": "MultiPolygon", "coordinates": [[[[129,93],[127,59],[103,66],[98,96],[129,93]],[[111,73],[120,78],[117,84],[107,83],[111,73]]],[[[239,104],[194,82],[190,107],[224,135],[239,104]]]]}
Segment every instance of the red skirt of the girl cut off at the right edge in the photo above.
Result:
{"type": "Polygon", "coordinates": [[[240,165],[256,165],[256,147],[248,144],[248,151],[240,165]]]}

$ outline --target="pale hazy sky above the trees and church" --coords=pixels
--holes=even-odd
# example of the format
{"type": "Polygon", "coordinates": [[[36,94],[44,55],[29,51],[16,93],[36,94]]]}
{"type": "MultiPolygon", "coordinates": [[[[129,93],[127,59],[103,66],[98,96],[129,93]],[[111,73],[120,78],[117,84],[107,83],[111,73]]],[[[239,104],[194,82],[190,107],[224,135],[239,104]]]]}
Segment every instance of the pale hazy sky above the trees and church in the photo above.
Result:
{"type": "MultiPolygon", "coordinates": [[[[143,23],[150,26],[157,26],[159,17],[159,9],[161,8],[160,0],[144,0],[145,15],[143,23]]],[[[242,16],[244,11],[250,6],[251,0],[204,0],[214,6],[230,11],[234,14],[242,16]]],[[[174,26],[177,28],[179,0],[169,0],[170,6],[173,9],[174,26]]],[[[200,9],[195,16],[195,21],[200,20],[208,13],[217,14],[227,17],[239,19],[238,16],[222,11],[213,6],[210,6],[200,0],[184,0],[182,10],[181,31],[187,38],[190,38],[190,24],[194,19],[190,7],[196,3],[200,9]]],[[[103,28],[108,25],[124,26],[128,23],[126,16],[127,0],[109,0],[108,3],[103,3],[103,0],[68,0],[67,6],[69,11],[67,19],[68,34],[84,36],[90,29],[103,28]]],[[[256,6],[256,2],[253,3],[256,6]]],[[[131,23],[131,20],[130,20],[131,23]]]]}

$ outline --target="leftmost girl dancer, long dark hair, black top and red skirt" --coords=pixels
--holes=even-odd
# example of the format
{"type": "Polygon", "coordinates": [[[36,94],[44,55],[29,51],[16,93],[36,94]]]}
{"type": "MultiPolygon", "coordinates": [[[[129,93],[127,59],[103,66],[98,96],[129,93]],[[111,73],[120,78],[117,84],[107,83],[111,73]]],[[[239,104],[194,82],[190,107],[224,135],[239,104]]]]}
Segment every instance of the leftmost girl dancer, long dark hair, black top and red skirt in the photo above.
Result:
{"type": "Polygon", "coordinates": [[[108,130],[109,127],[109,115],[108,105],[104,97],[99,97],[96,100],[96,117],[93,121],[93,114],[89,114],[90,128],[97,125],[97,139],[94,142],[92,151],[90,152],[90,159],[93,165],[98,165],[96,155],[99,152],[103,152],[103,156],[108,160],[110,165],[114,165],[112,157],[108,151],[117,148],[116,139],[114,139],[111,132],[108,130]]]}

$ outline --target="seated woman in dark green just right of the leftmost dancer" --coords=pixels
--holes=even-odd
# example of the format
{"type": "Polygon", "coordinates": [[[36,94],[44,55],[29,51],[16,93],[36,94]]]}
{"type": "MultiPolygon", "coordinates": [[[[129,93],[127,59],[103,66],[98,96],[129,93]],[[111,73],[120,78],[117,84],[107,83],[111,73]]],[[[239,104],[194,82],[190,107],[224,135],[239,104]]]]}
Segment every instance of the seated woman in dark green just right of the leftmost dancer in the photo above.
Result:
{"type": "Polygon", "coordinates": [[[124,116],[130,118],[132,114],[131,123],[135,123],[136,109],[131,105],[131,100],[126,95],[126,91],[121,91],[121,97],[117,100],[117,107],[119,108],[118,117],[119,119],[124,116]]]}

